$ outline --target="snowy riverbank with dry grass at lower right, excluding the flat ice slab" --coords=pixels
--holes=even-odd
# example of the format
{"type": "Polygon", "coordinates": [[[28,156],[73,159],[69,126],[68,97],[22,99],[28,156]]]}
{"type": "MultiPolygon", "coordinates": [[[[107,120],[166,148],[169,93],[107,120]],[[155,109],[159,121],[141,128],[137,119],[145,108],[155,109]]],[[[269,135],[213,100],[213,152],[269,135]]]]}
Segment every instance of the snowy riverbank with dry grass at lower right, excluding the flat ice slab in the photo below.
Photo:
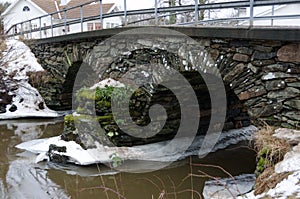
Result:
{"type": "Polygon", "coordinates": [[[300,198],[300,131],[268,127],[256,135],[255,190],[239,198],[300,198]]]}

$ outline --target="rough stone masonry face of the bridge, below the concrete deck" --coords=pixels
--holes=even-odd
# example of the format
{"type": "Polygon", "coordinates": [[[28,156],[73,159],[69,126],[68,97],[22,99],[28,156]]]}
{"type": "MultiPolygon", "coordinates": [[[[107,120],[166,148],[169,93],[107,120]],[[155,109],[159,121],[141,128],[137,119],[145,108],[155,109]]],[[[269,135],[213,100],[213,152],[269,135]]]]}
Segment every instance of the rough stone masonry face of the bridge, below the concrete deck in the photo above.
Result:
{"type": "MultiPolygon", "coordinates": [[[[78,40],[73,43],[31,43],[31,49],[50,80],[39,82],[40,93],[51,107],[64,105],[63,86],[73,63],[86,62],[95,74],[103,74],[120,57],[136,49],[165,49],[186,60],[184,71],[219,69],[224,84],[244,104],[253,121],[299,128],[300,122],[300,44],[267,40],[193,38],[197,48],[189,49],[181,37],[143,36],[78,40]],[[136,45],[133,46],[132,43],[136,45]],[[204,55],[203,55],[204,54],[204,55]],[[195,61],[196,60],[196,61],[195,61]]],[[[67,97],[66,97],[67,98],[67,97]]],[[[68,100],[65,100],[68,101],[68,100]]],[[[69,100],[70,101],[70,100],[69,100]]],[[[68,104],[65,104],[68,106],[68,104]]]]}

